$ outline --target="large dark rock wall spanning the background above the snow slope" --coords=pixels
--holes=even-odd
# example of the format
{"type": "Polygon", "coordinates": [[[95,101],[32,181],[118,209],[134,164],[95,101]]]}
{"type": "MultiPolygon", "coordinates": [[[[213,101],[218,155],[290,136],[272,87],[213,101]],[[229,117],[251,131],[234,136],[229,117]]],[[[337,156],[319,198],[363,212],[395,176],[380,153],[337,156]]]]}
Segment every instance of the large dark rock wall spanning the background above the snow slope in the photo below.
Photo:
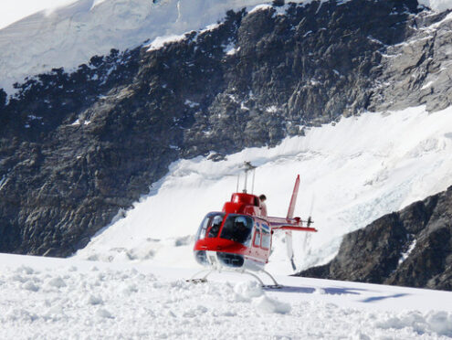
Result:
{"type": "Polygon", "coordinates": [[[402,77],[384,56],[444,16],[415,0],[274,5],[159,50],[54,69],[7,102],[0,91],[0,251],[67,256],[181,157],[222,159],[387,107],[405,88],[375,89],[402,77]]]}

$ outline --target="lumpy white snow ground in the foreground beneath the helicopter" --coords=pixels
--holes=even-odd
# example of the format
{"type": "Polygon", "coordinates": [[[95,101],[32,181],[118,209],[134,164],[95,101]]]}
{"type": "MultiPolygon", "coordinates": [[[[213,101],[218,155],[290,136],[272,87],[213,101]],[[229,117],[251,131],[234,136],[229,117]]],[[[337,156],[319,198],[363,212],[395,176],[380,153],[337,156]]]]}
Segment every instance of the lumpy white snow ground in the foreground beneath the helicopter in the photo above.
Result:
{"type": "Polygon", "coordinates": [[[2,339],[447,339],[452,292],[0,254],[2,339]]]}

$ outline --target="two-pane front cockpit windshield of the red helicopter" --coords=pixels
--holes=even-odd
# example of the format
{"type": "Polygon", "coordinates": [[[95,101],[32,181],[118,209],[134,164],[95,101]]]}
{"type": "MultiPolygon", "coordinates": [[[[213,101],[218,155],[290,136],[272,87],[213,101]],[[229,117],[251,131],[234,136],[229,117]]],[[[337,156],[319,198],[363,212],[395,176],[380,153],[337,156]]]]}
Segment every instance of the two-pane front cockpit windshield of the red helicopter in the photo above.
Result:
{"type": "Polygon", "coordinates": [[[237,214],[226,215],[220,212],[212,212],[205,216],[199,226],[196,240],[216,238],[220,229],[220,239],[230,239],[246,247],[251,245],[253,218],[237,214]],[[221,228],[222,225],[223,228],[221,228]]]}

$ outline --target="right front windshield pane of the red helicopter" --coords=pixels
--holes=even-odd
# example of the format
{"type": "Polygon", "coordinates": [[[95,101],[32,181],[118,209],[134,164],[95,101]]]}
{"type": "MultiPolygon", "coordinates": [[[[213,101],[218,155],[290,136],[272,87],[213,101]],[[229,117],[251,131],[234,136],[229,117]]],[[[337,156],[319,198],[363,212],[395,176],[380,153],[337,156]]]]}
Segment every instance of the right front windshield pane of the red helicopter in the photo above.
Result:
{"type": "Polygon", "coordinates": [[[243,215],[229,214],[221,231],[222,239],[230,239],[249,247],[251,244],[251,231],[253,218],[243,215]]]}

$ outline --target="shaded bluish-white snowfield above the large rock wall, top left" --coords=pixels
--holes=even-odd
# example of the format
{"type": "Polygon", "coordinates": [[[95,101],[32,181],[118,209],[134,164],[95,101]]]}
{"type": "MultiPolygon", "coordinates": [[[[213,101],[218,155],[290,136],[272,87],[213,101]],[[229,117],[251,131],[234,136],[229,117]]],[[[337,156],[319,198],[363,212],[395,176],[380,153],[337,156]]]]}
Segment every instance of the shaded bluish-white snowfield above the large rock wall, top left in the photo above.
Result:
{"type": "MultiPolygon", "coordinates": [[[[146,40],[152,41],[151,50],[161,48],[186,32],[213,27],[230,9],[253,10],[263,3],[271,1],[48,0],[29,5],[17,16],[41,10],[0,29],[0,88],[13,93],[16,81],[52,68],[74,69],[95,55],[109,54],[111,48],[134,48],[146,40]]],[[[0,11],[8,4],[2,2],[0,11]]],[[[17,16],[4,16],[4,25],[17,16]]]]}

